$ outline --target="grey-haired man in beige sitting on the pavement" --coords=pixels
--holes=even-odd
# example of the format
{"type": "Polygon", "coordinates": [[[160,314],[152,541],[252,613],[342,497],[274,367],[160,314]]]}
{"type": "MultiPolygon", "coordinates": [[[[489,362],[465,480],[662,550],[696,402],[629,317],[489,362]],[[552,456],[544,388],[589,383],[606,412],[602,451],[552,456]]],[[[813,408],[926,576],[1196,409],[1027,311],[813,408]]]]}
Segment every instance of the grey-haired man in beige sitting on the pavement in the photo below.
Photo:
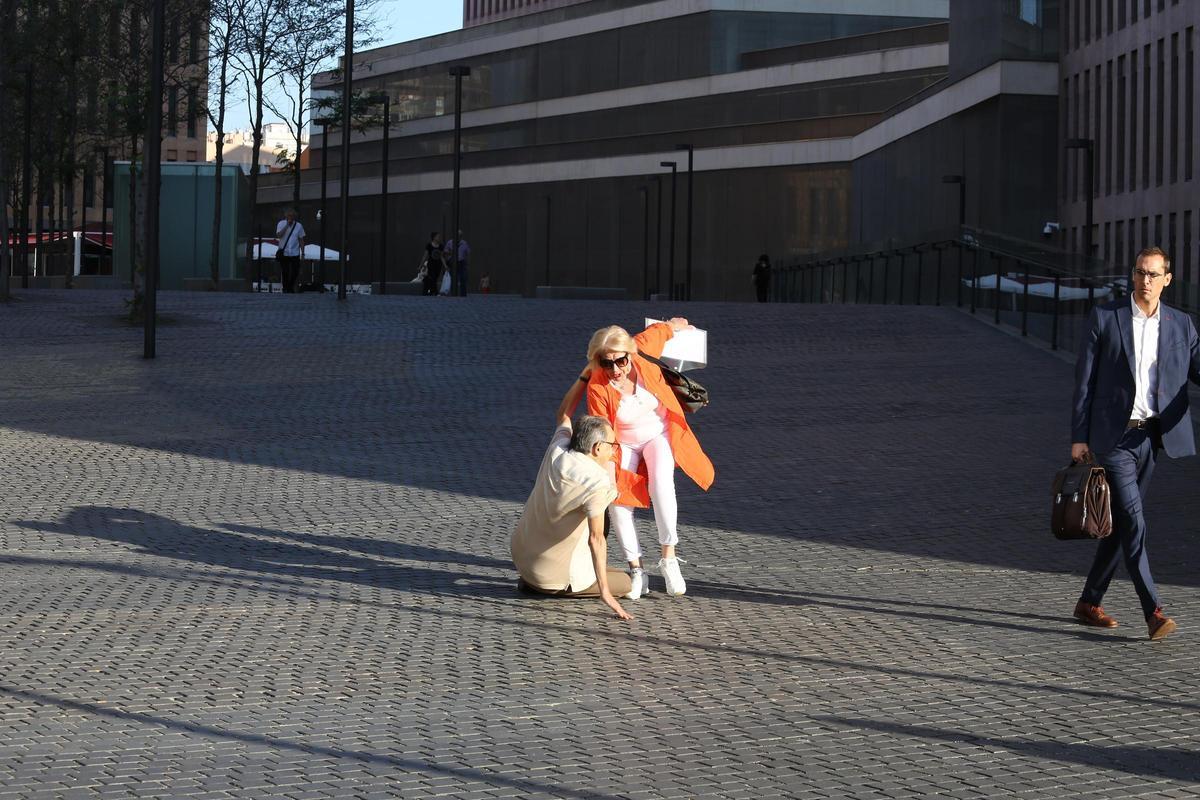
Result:
{"type": "Polygon", "coordinates": [[[523,589],[599,597],[620,619],[632,619],[614,596],[629,593],[629,575],[608,566],[604,537],[605,511],[617,499],[604,464],[616,446],[602,417],[582,416],[574,432],[571,417],[559,419],[512,534],[512,564],[523,589]]]}

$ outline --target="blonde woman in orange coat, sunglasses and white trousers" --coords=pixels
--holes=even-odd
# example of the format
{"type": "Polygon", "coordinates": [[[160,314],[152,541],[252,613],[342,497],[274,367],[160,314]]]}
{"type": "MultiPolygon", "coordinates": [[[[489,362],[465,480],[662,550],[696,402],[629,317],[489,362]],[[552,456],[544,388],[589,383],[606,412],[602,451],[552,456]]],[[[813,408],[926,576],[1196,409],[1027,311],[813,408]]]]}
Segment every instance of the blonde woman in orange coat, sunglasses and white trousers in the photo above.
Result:
{"type": "Polygon", "coordinates": [[[608,509],[608,517],[629,561],[632,589],[628,596],[632,600],[648,591],[634,509],[653,505],[662,546],[659,571],[667,594],[682,595],[688,587],[676,557],[679,535],[674,468],[678,465],[706,491],[714,477],[713,463],[701,450],[662,371],[641,356],[646,353],[658,357],[674,332],[685,327],[690,327],[688,320],[676,317],[655,323],[637,336],[617,325],[600,329],[588,343],[587,368],[559,409],[570,414],[586,384],[588,414],[608,420],[616,431],[619,464],[612,468],[618,497],[608,509]]]}

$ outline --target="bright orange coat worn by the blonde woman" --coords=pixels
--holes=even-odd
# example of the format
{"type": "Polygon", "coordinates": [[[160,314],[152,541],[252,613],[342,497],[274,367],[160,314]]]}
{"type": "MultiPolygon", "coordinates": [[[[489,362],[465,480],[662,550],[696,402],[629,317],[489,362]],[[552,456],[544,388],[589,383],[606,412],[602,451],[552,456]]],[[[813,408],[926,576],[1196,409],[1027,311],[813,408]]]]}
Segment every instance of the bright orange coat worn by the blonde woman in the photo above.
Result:
{"type": "MultiPolygon", "coordinates": [[[[662,347],[674,336],[674,331],[667,323],[655,323],[634,337],[640,353],[647,353],[655,359],[662,354],[662,347]]],[[[671,452],[674,462],[684,474],[696,482],[696,486],[708,491],[713,485],[716,473],[713,462],[708,459],[704,451],[700,449],[700,440],[688,425],[683,408],[676,398],[674,392],[662,377],[662,369],[656,363],[652,363],[640,355],[635,355],[634,363],[637,365],[637,373],[642,384],[654,395],[659,403],[666,409],[667,440],[671,443],[671,452]]],[[[602,416],[608,420],[613,431],[617,429],[617,405],[620,404],[620,392],[608,384],[608,378],[602,369],[594,368],[588,380],[588,414],[602,416]]],[[[617,504],[647,509],[650,505],[650,491],[646,473],[646,462],[638,464],[637,473],[620,469],[619,453],[617,457],[617,504]]]]}

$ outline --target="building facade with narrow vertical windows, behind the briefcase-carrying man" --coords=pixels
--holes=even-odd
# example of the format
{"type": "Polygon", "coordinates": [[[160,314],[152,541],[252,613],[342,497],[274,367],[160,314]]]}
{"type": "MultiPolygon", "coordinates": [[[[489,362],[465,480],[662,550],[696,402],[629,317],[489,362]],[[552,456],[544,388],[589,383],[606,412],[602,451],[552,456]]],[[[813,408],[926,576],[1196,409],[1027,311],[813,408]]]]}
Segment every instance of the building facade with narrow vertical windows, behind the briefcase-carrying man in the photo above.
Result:
{"type": "MultiPolygon", "coordinates": [[[[1192,0],[1063,0],[1058,91],[1063,139],[1093,143],[1092,255],[1128,272],[1142,247],[1174,260],[1168,297],[1200,306],[1196,29],[1192,0]]],[[[1082,252],[1085,150],[1062,154],[1064,243],[1082,252]]]]}

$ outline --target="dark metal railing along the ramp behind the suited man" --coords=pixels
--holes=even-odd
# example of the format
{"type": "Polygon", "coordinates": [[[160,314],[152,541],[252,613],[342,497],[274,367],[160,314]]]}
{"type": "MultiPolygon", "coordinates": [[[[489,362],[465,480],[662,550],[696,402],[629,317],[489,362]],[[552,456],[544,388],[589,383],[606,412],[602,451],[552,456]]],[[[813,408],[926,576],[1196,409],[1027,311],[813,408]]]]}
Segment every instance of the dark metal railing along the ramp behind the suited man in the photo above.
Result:
{"type": "MultiPolygon", "coordinates": [[[[1075,349],[1092,306],[1129,290],[1109,264],[983,230],[875,249],[823,253],[772,270],[775,302],[954,305],[1075,349]]],[[[1174,281],[1164,301],[1196,315],[1200,287],[1174,281]]]]}

